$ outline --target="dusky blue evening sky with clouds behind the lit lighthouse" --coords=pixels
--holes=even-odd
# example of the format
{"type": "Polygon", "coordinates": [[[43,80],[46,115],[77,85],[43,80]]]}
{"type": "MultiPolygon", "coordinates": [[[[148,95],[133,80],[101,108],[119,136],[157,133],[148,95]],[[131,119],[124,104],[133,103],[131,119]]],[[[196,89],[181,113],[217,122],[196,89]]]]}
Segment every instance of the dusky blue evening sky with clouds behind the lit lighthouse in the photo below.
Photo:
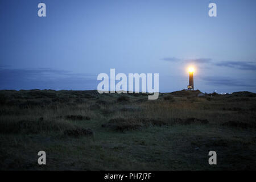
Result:
{"type": "Polygon", "coordinates": [[[256,92],[255,32],[253,0],[0,0],[0,89],[97,89],[115,68],[172,92],[193,65],[195,89],[256,92]]]}

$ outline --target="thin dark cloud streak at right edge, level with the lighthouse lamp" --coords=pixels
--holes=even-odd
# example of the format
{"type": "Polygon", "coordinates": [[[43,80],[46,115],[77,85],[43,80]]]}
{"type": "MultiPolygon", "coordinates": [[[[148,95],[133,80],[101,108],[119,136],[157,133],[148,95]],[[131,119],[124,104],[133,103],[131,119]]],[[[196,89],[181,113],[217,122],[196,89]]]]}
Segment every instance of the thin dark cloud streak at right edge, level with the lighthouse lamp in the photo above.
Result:
{"type": "Polygon", "coordinates": [[[229,67],[243,70],[256,70],[256,64],[251,61],[221,61],[214,65],[218,67],[229,67]]]}

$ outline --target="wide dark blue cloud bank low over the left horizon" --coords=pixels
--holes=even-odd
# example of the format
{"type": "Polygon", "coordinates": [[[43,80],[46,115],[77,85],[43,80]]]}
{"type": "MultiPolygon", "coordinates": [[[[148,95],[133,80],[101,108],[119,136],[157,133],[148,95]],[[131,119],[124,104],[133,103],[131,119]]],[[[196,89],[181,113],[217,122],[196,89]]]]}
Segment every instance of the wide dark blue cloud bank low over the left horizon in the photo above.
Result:
{"type": "Polygon", "coordinates": [[[97,88],[97,76],[58,69],[1,69],[0,89],[73,89],[97,88]]]}

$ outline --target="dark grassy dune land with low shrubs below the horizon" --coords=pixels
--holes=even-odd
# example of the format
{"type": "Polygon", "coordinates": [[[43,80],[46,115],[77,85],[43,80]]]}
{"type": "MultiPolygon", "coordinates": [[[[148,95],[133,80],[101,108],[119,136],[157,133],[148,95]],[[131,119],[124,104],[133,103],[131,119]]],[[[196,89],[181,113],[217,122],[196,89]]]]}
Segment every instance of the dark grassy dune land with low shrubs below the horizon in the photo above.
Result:
{"type": "Polygon", "coordinates": [[[1,90],[0,169],[255,170],[256,94],[198,93],[1,90]]]}

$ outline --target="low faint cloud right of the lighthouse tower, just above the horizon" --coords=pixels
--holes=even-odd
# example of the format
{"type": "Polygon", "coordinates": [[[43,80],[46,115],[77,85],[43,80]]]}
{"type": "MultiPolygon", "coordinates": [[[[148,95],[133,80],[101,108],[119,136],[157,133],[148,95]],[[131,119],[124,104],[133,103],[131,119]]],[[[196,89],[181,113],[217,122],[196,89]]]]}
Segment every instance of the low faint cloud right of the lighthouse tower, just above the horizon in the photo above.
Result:
{"type": "MultiPolygon", "coordinates": [[[[243,80],[237,80],[237,79],[230,78],[230,77],[205,76],[205,77],[200,77],[200,78],[202,80],[204,80],[206,82],[206,84],[213,85],[213,86],[256,87],[255,84],[248,84],[243,80]]],[[[256,80],[251,80],[250,82],[254,83],[255,81],[256,80]]]]}

